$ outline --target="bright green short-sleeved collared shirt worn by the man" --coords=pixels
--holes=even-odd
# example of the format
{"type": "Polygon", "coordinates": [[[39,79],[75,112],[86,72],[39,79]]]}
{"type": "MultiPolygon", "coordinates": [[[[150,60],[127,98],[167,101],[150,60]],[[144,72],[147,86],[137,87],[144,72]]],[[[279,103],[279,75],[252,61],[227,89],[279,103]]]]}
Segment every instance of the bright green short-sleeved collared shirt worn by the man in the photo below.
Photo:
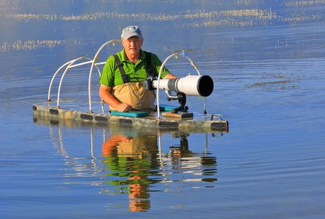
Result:
{"type": "MultiPolygon", "coordinates": [[[[128,82],[143,82],[148,78],[146,73],[146,55],[144,54],[144,51],[140,51],[140,57],[135,63],[128,60],[124,49],[118,52],[117,56],[123,64],[123,69],[128,78],[128,82]]],[[[153,66],[153,74],[158,76],[162,64],[161,60],[159,60],[158,56],[155,54],[151,54],[150,58],[151,65],[153,66]]],[[[168,73],[168,69],[164,67],[163,71],[161,71],[161,78],[164,78],[168,73]]],[[[100,77],[100,84],[104,84],[108,87],[123,84],[120,69],[117,67],[117,63],[113,56],[109,56],[104,65],[102,76],[100,77]]]]}

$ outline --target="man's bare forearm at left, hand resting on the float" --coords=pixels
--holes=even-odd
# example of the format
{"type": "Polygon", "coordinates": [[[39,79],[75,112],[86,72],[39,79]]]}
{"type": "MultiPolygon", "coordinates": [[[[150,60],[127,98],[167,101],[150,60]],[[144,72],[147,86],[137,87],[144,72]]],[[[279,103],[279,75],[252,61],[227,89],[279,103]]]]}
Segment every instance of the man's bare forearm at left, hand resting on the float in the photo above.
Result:
{"type": "Polygon", "coordinates": [[[116,108],[117,111],[120,111],[120,112],[131,111],[131,106],[130,105],[118,102],[113,97],[113,95],[111,94],[111,87],[108,87],[108,86],[106,86],[104,84],[100,84],[99,94],[100,94],[100,98],[102,98],[102,100],[104,100],[104,102],[106,102],[107,104],[109,104],[113,108],[116,108]]]}

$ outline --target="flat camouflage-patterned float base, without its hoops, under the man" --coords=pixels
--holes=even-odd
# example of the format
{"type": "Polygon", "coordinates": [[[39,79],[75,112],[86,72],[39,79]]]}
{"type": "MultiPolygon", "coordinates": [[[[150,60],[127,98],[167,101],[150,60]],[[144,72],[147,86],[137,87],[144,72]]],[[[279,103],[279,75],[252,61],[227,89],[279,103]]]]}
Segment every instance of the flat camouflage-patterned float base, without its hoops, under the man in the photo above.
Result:
{"type": "Polygon", "coordinates": [[[34,122],[48,120],[50,124],[65,124],[66,122],[80,122],[83,124],[118,124],[135,128],[151,128],[155,130],[179,130],[184,132],[228,132],[228,122],[220,115],[204,115],[201,119],[177,119],[164,117],[156,119],[155,113],[146,117],[129,117],[123,115],[84,113],[65,110],[41,104],[33,105],[34,122]]]}

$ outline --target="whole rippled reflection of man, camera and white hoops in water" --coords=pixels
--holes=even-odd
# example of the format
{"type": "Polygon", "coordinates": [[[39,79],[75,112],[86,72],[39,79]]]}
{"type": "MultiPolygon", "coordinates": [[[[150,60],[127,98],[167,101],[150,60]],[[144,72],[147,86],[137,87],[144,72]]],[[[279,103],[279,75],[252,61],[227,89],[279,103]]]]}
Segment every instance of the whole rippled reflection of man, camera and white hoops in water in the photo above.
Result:
{"type": "MultiPolygon", "coordinates": [[[[127,195],[128,211],[148,211],[152,192],[172,192],[177,186],[184,189],[214,187],[217,181],[216,157],[208,152],[208,134],[203,134],[206,142],[200,149],[204,152],[192,152],[188,133],[172,132],[179,144],[167,148],[161,146],[161,136],[166,133],[110,127],[107,137],[107,130],[102,128],[102,154],[96,154],[91,126],[90,164],[89,159],[77,158],[67,152],[60,125],[50,125],[49,129],[54,148],[64,157],[65,164],[74,170],[66,177],[76,180],[76,176],[99,176],[100,179],[91,185],[100,185],[100,194],[127,195]],[[56,127],[58,138],[54,131],[56,127]],[[99,159],[101,155],[102,159],[99,159]],[[87,163],[83,163],[85,161],[87,163]]],[[[77,182],[69,184],[82,183],[83,179],[78,182],[78,177],[77,182]]]]}

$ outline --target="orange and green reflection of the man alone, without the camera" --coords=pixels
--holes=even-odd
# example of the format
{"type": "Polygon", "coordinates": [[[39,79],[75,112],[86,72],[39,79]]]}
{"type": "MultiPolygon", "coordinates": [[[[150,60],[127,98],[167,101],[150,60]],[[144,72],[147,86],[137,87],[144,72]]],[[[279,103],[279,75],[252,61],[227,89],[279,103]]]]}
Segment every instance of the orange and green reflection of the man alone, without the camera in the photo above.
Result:
{"type": "Polygon", "coordinates": [[[128,185],[127,189],[130,211],[147,211],[150,209],[148,187],[155,183],[152,169],[157,169],[157,135],[135,136],[111,134],[102,145],[106,165],[111,171],[107,176],[120,176],[113,185],[128,185]],[[127,178],[127,179],[125,179],[127,178]]]}

